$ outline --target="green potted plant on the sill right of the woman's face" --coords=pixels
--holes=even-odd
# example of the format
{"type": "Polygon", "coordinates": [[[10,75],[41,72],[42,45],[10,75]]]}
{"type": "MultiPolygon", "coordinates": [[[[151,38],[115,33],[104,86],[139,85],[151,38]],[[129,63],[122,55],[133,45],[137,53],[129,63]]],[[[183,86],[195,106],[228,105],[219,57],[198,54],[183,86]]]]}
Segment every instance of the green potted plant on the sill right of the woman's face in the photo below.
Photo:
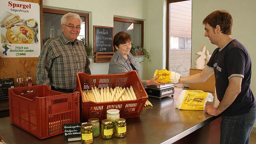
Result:
{"type": "Polygon", "coordinates": [[[132,44],[132,48],[131,48],[130,52],[132,53],[132,55],[144,55],[144,59],[142,61],[140,61],[139,63],[144,62],[145,58],[147,58],[148,61],[151,62],[150,55],[146,49],[144,49],[141,46],[134,46],[133,43],[131,43],[131,44],[132,44]]]}

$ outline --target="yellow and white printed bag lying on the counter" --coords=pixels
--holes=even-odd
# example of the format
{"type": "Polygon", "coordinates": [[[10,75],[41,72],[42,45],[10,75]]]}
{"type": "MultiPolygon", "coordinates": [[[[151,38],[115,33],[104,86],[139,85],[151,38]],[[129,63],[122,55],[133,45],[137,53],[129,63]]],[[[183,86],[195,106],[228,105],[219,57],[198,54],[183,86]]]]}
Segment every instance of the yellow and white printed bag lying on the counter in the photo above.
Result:
{"type": "Polygon", "coordinates": [[[176,102],[182,110],[204,110],[206,102],[213,101],[213,95],[201,90],[183,90],[176,102]]]}

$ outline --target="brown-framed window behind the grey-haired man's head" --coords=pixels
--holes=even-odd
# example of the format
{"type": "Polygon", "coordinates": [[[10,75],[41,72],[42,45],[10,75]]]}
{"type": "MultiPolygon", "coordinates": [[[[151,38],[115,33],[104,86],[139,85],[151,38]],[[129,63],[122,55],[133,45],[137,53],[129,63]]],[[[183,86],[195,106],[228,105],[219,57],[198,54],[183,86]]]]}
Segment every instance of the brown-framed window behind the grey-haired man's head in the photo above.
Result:
{"type": "MultiPolygon", "coordinates": [[[[61,35],[61,17],[68,13],[77,13],[72,11],[56,10],[43,8],[43,43],[50,38],[61,35]]],[[[82,19],[82,25],[80,33],[77,39],[85,38],[86,42],[89,43],[89,14],[88,13],[77,13],[82,19]]]]}

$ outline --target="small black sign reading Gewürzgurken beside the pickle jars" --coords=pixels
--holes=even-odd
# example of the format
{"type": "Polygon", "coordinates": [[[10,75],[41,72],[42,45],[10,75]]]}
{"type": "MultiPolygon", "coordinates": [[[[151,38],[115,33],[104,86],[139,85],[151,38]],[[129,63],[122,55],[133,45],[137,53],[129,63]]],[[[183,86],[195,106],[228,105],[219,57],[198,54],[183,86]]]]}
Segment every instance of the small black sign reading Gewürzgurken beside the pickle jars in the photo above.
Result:
{"type": "Polygon", "coordinates": [[[63,126],[64,139],[67,140],[69,137],[81,136],[81,125],[82,123],[68,123],[63,126]]]}

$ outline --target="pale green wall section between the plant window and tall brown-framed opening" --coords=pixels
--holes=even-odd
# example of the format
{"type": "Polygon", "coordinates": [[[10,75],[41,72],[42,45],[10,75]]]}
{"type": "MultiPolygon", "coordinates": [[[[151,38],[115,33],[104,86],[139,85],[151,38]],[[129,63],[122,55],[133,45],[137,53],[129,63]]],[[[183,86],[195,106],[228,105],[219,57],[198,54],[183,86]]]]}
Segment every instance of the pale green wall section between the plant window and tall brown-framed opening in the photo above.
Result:
{"type": "Polygon", "coordinates": [[[150,77],[156,69],[166,69],[166,0],[149,0],[148,9],[148,45],[152,60],[148,68],[150,77]]]}

